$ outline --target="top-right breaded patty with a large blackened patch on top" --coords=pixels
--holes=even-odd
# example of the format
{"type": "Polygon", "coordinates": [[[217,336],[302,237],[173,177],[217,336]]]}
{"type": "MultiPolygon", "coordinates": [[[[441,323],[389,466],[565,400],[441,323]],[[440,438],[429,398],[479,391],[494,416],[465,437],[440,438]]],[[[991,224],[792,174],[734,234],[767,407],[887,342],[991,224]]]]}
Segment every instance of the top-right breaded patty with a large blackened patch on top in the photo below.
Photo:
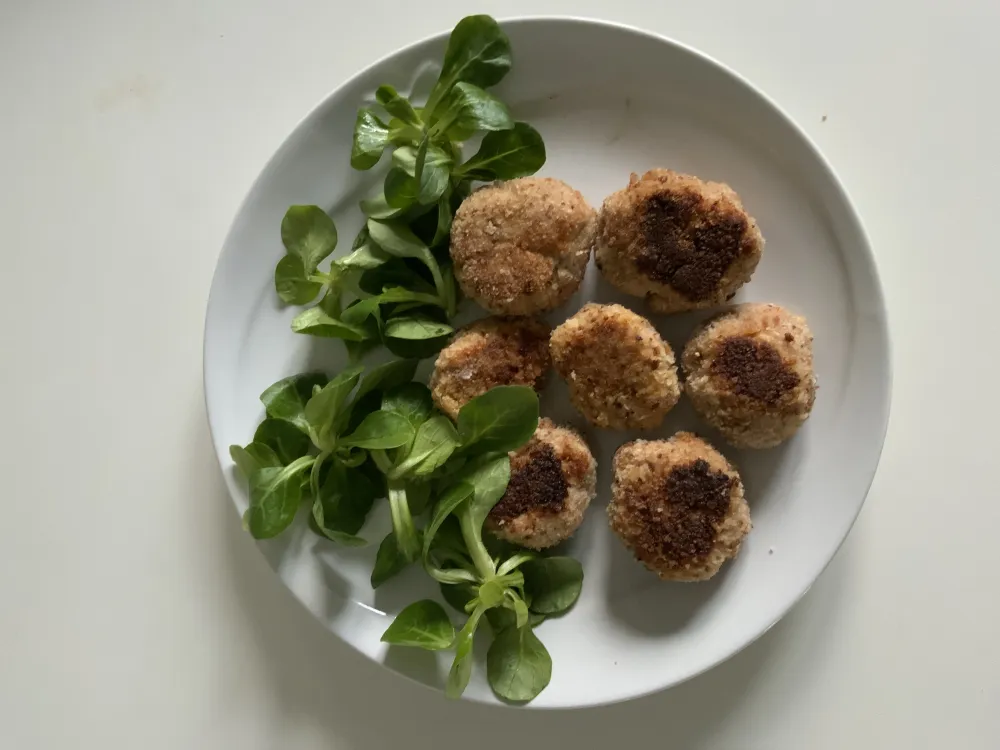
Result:
{"type": "Polygon", "coordinates": [[[726,184],[654,169],[604,201],[597,267],[656,312],[719,305],[750,280],[764,249],[757,223],[726,184]]]}

